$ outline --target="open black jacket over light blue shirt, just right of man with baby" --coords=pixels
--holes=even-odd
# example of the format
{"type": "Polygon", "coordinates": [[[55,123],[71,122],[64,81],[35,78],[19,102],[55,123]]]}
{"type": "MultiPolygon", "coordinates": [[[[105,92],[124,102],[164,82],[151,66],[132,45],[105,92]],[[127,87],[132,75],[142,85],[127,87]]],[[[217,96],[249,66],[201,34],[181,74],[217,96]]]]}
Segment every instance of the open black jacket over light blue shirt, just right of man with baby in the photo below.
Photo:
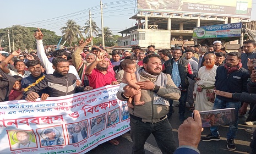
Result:
{"type": "MultiPolygon", "coordinates": [[[[181,77],[181,90],[185,90],[188,88],[188,77],[192,80],[194,80],[195,76],[192,73],[191,66],[187,59],[179,58],[178,59],[178,70],[179,70],[179,76],[181,77]]],[[[173,68],[173,59],[169,59],[164,63],[165,70],[163,70],[163,73],[170,74],[172,76],[172,68],[173,68]]]]}

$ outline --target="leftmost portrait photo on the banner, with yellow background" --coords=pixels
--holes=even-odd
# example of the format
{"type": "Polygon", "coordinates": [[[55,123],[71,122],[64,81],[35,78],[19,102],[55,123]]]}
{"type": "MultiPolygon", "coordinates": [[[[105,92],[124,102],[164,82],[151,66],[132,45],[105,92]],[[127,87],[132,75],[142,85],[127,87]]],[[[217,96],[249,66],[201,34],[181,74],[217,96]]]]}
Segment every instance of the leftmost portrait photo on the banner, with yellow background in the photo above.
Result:
{"type": "Polygon", "coordinates": [[[34,130],[6,130],[10,150],[37,148],[34,130]]]}

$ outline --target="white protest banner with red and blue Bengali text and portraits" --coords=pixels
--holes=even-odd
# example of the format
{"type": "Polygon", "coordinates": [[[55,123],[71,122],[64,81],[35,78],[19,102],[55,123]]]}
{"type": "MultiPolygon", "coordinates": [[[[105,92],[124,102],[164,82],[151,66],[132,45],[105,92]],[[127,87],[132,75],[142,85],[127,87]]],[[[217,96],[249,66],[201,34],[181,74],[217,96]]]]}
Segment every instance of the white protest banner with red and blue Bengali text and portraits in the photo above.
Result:
{"type": "Polygon", "coordinates": [[[51,97],[1,102],[1,153],[86,153],[130,130],[119,85],[51,97]]]}

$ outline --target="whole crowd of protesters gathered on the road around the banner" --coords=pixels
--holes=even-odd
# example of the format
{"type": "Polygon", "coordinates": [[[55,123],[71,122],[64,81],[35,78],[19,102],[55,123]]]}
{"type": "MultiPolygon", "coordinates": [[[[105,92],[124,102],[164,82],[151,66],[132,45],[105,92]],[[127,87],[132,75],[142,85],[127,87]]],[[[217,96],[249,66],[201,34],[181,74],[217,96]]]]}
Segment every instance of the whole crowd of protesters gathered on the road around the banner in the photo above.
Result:
{"type": "MultiPolygon", "coordinates": [[[[1,101],[35,101],[37,98],[44,101],[47,97],[120,84],[117,98],[128,103],[133,153],[145,153],[144,144],[150,134],[154,135],[162,153],[199,153],[197,146],[200,140],[219,141],[217,126],[210,127],[209,135],[200,137],[202,124],[198,111],[235,108],[236,120],[227,133],[229,150],[236,149],[234,140],[238,116],[246,114],[249,103],[246,124],[252,125],[256,121],[255,98],[251,98],[254,95],[250,95],[251,100],[243,99],[248,92],[256,93],[253,65],[256,58],[255,41],[244,41],[238,52],[229,53],[222,50],[221,41],[215,41],[211,46],[184,47],[183,44],[182,47],[158,51],[154,45],[148,46],[147,50],[133,46],[132,51],[113,50],[110,57],[102,46],[84,51],[92,38],[81,39],[74,52],[68,52],[65,49],[51,51],[49,47],[44,48],[40,29],[34,36],[37,53],[14,51],[8,57],[0,56],[1,101]],[[175,112],[173,100],[178,100],[179,120],[184,121],[178,130],[177,150],[168,122],[175,112]],[[190,117],[186,120],[186,102],[189,111],[194,112],[194,119],[190,117]],[[189,134],[193,135],[184,135],[192,128],[195,131],[189,134]]],[[[113,112],[109,115],[112,122],[109,125],[115,124],[116,114],[113,112]]],[[[213,122],[219,117],[217,114],[208,116],[209,121],[213,122]]],[[[94,128],[91,129],[97,129],[101,121],[101,117],[95,119],[94,128]]],[[[221,125],[220,119],[218,123],[221,125]]],[[[79,142],[81,136],[86,138],[86,127],[84,123],[70,125],[70,142],[79,142]]],[[[255,135],[254,132],[252,143],[255,143],[255,135]]],[[[117,139],[109,142],[119,144],[117,139]]],[[[255,144],[250,147],[256,151],[255,144]]]]}

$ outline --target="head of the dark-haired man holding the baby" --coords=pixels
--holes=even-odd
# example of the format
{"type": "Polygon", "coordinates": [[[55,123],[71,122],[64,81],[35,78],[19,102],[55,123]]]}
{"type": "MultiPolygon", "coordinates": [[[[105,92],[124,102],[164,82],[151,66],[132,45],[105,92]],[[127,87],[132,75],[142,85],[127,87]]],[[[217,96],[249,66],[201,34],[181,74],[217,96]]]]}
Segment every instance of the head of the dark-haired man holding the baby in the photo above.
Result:
{"type": "Polygon", "coordinates": [[[157,57],[149,58],[148,64],[143,64],[144,69],[151,75],[159,75],[162,71],[162,62],[157,57]]]}

